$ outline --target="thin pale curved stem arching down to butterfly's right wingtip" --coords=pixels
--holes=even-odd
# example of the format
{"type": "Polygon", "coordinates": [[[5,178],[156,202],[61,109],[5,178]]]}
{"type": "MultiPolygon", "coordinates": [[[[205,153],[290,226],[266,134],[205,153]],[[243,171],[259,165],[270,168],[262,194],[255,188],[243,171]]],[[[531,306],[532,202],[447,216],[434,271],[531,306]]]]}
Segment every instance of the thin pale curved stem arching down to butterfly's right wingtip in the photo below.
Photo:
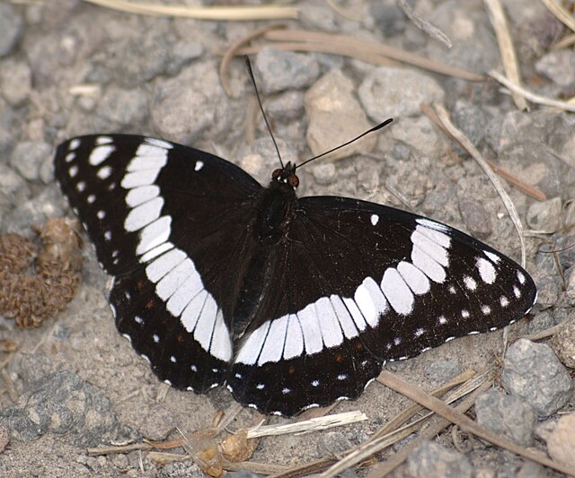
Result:
{"type": "Polygon", "coordinates": [[[487,164],[487,162],[483,159],[481,153],[477,151],[477,149],[475,148],[475,146],[473,146],[473,143],[469,141],[467,136],[465,136],[461,131],[459,131],[456,128],[456,126],[454,126],[454,124],[451,122],[451,120],[449,119],[449,115],[447,114],[447,110],[438,103],[434,104],[434,108],[438,113],[438,117],[443,123],[443,126],[446,127],[449,134],[456,137],[457,141],[464,146],[465,150],[467,150],[467,152],[469,152],[469,154],[472,155],[473,159],[477,161],[477,163],[482,167],[487,177],[491,179],[493,187],[495,187],[495,189],[499,193],[501,201],[505,205],[509,213],[509,217],[511,218],[511,221],[513,222],[513,224],[515,225],[515,229],[517,230],[519,241],[521,243],[521,265],[525,267],[526,252],[525,252],[525,238],[523,237],[523,225],[521,224],[521,220],[519,219],[519,215],[517,214],[517,210],[515,209],[515,204],[513,204],[513,202],[509,198],[509,195],[507,194],[505,189],[501,186],[500,179],[489,167],[489,164],[487,164]]]}

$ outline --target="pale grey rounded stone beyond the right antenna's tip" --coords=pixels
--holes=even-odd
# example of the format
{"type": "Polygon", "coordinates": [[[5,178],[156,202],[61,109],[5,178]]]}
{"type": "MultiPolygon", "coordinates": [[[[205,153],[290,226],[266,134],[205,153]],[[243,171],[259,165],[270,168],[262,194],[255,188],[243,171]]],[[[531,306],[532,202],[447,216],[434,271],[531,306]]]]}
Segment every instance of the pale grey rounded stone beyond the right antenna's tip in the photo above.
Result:
{"type": "Polygon", "coordinates": [[[381,66],[367,74],[358,89],[361,105],[374,121],[419,116],[422,102],[442,102],[444,91],[418,70],[381,66]]]}

